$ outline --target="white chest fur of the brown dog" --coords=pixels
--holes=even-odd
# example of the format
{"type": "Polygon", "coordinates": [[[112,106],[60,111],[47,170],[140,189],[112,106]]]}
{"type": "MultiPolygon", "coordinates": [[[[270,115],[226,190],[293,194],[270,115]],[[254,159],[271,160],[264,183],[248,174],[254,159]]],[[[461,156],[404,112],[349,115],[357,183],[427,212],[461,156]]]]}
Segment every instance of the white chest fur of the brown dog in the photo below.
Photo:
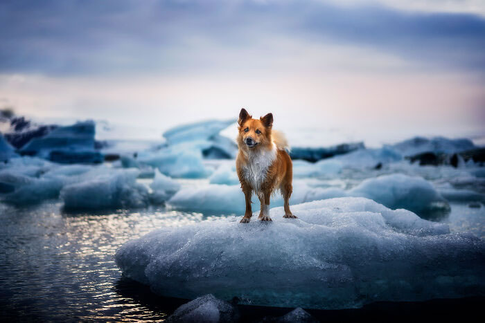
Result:
{"type": "Polygon", "coordinates": [[[259,193],[261,184],[265,181],[267,169],[276,159],[276,145],[273,143],[271,150],[249,151],[247,164],[243,167],[246,181],[251,183],[256,194],[259,193]]]}

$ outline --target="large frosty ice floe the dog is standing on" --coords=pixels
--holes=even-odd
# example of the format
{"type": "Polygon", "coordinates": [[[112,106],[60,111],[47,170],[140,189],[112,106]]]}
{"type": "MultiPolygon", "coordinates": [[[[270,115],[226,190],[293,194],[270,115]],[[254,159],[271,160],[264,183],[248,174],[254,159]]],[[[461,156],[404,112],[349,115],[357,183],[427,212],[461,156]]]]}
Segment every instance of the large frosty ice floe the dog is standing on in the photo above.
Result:
{"type": "Polygon", "coordinates": [[[212,293],[263,306],[356,308],[484,293],[485,242],[471,234],[364,198],[293,212],[299,219],[283,219],[276,207],[272,223],[232,216],[163,228],[125,243],[115,261],[160,295],[212,293]]]}

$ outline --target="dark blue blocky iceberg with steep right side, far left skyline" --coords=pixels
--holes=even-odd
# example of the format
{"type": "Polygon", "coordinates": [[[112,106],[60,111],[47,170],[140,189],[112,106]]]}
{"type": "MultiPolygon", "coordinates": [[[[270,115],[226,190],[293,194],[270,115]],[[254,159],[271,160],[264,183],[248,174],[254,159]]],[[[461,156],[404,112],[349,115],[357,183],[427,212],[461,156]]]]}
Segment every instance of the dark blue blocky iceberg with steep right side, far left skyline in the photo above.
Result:
{"type": "Polygon", "coordinates": [[[94,135],[93,121],[78,122],[53,129],[44,137],[33,138],[20,152],[57,163],[101,163],[103,156],[94,149],[94,135]]]}

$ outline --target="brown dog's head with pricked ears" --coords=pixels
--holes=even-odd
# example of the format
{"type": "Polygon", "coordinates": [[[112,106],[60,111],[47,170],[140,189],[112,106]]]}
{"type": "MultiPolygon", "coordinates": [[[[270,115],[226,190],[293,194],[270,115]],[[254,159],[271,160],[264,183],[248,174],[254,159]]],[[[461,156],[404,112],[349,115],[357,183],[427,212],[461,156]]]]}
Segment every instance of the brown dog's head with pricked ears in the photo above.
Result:
{"type": "Polygon", "coordinates": [[[241,109],[238,124],[238,145],[240,148],[255,149],[256,147],[267,147],[271,144],[272,113],[268,113],[259,119],[253,119],[245,109],[241,109]]]}

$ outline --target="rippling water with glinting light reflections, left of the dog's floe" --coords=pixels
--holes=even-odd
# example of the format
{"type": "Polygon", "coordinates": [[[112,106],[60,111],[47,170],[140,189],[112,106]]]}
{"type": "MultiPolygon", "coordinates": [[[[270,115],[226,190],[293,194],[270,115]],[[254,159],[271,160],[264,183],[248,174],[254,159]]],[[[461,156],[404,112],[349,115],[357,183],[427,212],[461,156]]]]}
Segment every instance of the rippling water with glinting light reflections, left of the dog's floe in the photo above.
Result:
{"type": "MultiPolygon", "coordinates": [[[[166,225],[202,221],[198,213],[148,209],[112,214],[66,214],[60,204],[17,209],[1,205],[0,304],[3,315],[49,320],[163,320],[123,295],[114,264],[129,239],[166,225]]],[[[147,291],[146,293],[150,294],[147,291]]],[[[173,311],[173,309],[172,309],[173,311]]]]}

